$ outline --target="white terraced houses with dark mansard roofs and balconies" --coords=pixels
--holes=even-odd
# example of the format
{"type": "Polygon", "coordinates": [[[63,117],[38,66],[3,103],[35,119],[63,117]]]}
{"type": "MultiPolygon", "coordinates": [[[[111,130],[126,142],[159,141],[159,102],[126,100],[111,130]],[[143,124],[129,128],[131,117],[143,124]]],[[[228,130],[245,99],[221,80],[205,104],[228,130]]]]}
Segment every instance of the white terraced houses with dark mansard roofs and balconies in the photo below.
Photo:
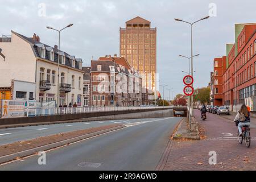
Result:
{"type": "MultiPolygon", "coordinates": [[[[82,106],[83,71],[82,60],[67,52],[59,51],[40,42],[39,36],[32,38],[11,31],[11,36],[0,38],[0,48],[5,61],[0,61],[0,88],[14,86],[13,80],[22,81],[17,93],[11,99],[19,98],[37,101],[57,99],[57,63],[60,54],[60,104],[77,103],[82,106]],[[27,84],[34,84],[28,90],[27,84]]],[[[14,82],[15,83],[15,82],[14,82]]],[[[17,89],[16,89],[17,90],[17,89]]]]}

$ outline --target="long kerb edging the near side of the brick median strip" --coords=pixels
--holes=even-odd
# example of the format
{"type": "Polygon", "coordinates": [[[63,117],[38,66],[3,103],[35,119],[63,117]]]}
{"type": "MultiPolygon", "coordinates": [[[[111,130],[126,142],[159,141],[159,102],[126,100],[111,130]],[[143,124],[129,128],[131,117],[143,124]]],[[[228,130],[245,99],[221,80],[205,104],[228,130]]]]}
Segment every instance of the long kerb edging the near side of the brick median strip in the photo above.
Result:
{"type": "Polygon", "coordinates": [[[28,150],[20,151],[20,152],[17,152],[15,154],[9,154],[9,155],[5,155],[5,156],[1,156],[0,157],[0,164],[6,163],[6,162],[9,162],[11,160],[18,159],[18,158],[23,158],[25,156],[29,156],[29,155],[35,154],[36,152],[39,152],[39,151],[46,151],[46,150],[49,150],[49,149],[52,149],[52,148],[65,146],[66,144],[77,142],[77,141],[82,140],[82,139],[86,139],[86,138],[94,137],[96,135],[108,133],[110,131],[122,129],[123,127],[125,127],[125,126],[124,125],[116,126],[116,127],[110,128],[110,129],[96,131],[94,133],[89,133],[89,134],[81,135],[79,137],[70,138],[70,139],[62,140],[60,142],[46,144],[44,146],[40,146],[40,147],[36,147],[36,148],[31,148],[31,149],[28,149],[28,150]]]}

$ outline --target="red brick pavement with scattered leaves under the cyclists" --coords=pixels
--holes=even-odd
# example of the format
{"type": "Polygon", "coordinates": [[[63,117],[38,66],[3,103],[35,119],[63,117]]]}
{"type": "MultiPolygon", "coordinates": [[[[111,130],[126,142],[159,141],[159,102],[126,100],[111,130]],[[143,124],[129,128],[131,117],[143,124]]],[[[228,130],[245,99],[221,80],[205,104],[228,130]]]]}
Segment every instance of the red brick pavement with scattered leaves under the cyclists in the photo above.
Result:
{"type": "Polygon", "coordinates": [[[195,117],[207,138],[199,141],[173,141],[164,170],[256,170],[256,129],[251,129],[251,146],[239,144],[234,122],[207,113],[201,121],[200,111],[195,117]],[[217,164],[210,165],[209,151],[216,151],[217,164]]]}

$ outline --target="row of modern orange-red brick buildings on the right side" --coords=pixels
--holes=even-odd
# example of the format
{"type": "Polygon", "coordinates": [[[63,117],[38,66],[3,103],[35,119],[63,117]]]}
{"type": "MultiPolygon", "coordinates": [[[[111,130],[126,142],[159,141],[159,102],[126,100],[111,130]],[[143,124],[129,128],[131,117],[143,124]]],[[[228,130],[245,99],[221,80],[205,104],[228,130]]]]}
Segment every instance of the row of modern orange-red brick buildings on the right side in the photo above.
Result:
{"type": "Polygon", "coordinates": [[[213,60],[211,102],[234,111],[246,104],[256,111],[256,23],[235,24],[234,29],[226,55],[213,60]]]}

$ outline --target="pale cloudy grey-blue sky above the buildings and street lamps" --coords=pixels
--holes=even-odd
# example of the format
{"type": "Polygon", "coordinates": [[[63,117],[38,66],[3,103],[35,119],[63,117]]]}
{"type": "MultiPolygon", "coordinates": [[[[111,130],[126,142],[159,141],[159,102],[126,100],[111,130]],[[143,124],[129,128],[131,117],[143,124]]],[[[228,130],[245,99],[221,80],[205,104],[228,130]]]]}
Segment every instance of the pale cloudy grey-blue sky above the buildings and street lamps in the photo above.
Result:
{"type": "MultiPolygon", "coordinates": [[[[46,26],[60,29],[60,49],[81,57],[83,65],[100,56],[119,55],[119,27],[136,16],[151,22],[157,28],[156,64],[160,85],[168,85],[164,97],[168,99],[183,93],[181,71],[188,72],[188,60],[179,55],[191,56],[191,29],[189,24],[176,22],[180,18],[194,22],[210,15],[207,20],[193,26],[194,88],[208,86],[213,71],[214,57],[225,56],[226,43],[234,43],[234,24],[256,22],[253,0],[74,0],[74,1],[18,1],[0,0],[0,36],[10,35],[11,30],[54,46],[57,32],[46,26]]],[[[159,90],[163,93],[163,88],[159,90]]]]}

